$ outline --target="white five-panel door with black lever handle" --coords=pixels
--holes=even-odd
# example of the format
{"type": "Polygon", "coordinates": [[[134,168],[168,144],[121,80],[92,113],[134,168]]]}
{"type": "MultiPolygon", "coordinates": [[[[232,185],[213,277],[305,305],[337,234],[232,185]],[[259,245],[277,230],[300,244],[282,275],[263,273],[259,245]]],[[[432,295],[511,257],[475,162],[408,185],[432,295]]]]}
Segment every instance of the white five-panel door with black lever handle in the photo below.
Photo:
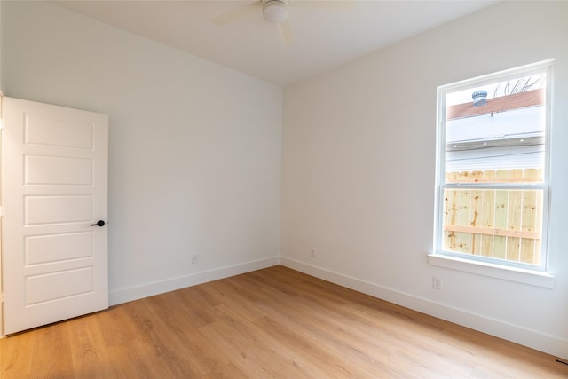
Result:
{"type": "Polygon", "coordinates": [[[107,308],[108,116],[10,98],[3,116],[4,332],[107,308]]]}

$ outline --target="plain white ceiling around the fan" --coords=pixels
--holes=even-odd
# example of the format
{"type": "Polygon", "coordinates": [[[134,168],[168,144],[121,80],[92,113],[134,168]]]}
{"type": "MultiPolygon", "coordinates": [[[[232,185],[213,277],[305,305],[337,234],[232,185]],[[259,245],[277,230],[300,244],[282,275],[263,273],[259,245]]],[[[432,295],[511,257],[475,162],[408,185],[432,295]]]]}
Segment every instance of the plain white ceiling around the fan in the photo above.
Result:
{"type": "Polygon", "coordinates": [[[286,86],[495,4],[494,0],[289,0],[295,43],[284,46],[262,9],[217,26],[253,0],[53,1],[225,67],[286,86]],[[296,6],[294,6],[296,4],[296,6]],[[297,6],[302,5],[302,6],[297,6]]]}

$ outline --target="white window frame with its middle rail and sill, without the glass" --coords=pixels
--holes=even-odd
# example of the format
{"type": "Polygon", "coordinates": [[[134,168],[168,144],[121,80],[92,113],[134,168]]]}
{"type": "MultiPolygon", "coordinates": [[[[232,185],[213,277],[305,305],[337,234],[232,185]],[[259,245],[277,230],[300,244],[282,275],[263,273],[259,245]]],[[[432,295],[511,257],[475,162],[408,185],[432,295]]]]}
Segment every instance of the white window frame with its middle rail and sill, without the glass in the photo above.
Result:
{"type": "Polygon", "coordinates": [[[434,219],[434,244],[433,251],[429,254],[429,264],[446,267],[464,272],[471,272],[480,275],[513,280],[532,284],[535,286],[553,288],[554,276],[548,272],[548,230],[549,230],[549,208],[550,208],[550,133],[551,133],[551,111],[552,111],[552,69],[554,59],[548,59],[523,67],[515,67],[494,74],[478,76],[457,83],[446,84],[438,87],[438,116],[437,116],[437,162],[436,162],[436,200],[435,200],[435,219],[434,219]],[[488,185],[488,184],[448,184],[446,183],[446,95],[454,91],[461,91],[471,87],[482,88],[485,84],[507,81],[526,75],[546,72],[546,126],[544,136],[545,147],[545,167],[543,170],[543,181],[535,184],[507,184],[507,185],[488,185]],[[444,190],[446,188],[499,188],[499,189],[540,189],[543,192],[543,212],[542,212],[542,235],[541,235],[541,257],[540,265],[525,265],[516,262],[491,258],[478,257],[465,253],[444,251],[443,242],[443,220],[444,220],[444,190]]]}

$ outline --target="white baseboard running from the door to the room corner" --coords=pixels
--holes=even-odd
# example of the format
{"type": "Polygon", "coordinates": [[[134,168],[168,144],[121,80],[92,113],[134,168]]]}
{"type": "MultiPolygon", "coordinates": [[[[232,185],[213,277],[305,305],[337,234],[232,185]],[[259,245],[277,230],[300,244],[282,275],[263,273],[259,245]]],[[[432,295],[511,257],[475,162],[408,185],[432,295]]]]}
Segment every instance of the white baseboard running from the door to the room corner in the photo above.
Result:
{"type": "Polygon", "coordinates": [[[144,297],[159,295],[165,292],[175,291],[176,289],[191,287],[212,280],[224,279],[279,264],[280,257],[270,257],[245,262],[239,265],[230,265],[213,270],[195,272],[177,278],[154,281],[136,287],[115,289],[109,292],[108,303],[110,305],[127,303],[144,297]]]}

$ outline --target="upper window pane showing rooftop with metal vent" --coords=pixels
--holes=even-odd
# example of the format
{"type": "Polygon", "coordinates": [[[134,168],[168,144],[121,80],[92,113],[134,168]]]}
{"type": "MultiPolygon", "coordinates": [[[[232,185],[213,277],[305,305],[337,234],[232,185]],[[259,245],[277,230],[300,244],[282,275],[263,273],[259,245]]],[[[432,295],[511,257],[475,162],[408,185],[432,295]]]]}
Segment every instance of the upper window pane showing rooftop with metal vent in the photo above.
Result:
{"type": "Polygon", "coordinates": [[[546,74],[446,94],[448,183],[542,182],[546,74]]]}

